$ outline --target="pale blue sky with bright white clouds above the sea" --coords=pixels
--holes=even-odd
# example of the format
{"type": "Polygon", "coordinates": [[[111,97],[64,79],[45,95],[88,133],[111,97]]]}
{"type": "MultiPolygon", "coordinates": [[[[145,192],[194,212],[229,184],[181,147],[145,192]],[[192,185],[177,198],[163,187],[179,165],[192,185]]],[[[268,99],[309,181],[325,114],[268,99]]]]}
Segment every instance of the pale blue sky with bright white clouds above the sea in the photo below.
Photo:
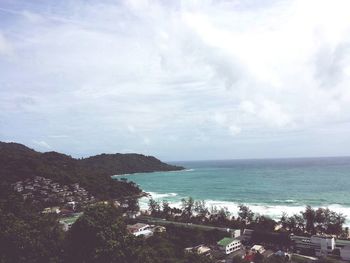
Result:
{"type": "Polygon", "coordinates": [[[0,0],[0,141],[350,155],[350,1],[0,0]]]}

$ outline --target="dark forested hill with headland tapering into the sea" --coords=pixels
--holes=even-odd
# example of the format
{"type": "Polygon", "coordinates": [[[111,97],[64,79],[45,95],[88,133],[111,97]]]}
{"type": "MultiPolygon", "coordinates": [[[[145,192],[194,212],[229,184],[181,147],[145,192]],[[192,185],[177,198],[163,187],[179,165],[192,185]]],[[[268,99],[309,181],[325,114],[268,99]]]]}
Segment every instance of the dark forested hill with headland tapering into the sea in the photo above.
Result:
{"type": "Polygon", "coordinates": [[[74,159],[57,152],[40,153],[22,144],[0,142],[0,182],[42,176],[61,184],[79,183],[96,197],[112,198],[141,192],[133,183],[113,180],[111,175],[179,169],[182,167],[139,154],[102,154],[74,159]]]}

